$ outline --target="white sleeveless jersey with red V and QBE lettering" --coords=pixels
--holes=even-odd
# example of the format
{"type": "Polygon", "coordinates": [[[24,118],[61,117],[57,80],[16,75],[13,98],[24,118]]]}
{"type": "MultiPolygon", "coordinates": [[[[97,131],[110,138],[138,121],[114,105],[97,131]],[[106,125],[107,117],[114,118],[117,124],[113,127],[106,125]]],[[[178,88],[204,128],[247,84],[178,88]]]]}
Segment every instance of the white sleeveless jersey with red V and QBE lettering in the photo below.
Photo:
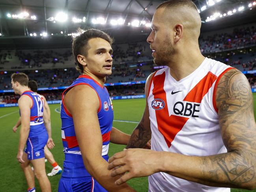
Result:
{"type": "MultiPolygon", "coordinates": [[[[206,58],[189,76],[176,81],[169,67],[151,78],[148,107],[151,149],[183,155],[226,153],[220,134],[215,91],[232,67],[206,58]]],[[[230,192],[230,188],[201,185],[159,172],[149,176],[151,192],[230,192]]]]}

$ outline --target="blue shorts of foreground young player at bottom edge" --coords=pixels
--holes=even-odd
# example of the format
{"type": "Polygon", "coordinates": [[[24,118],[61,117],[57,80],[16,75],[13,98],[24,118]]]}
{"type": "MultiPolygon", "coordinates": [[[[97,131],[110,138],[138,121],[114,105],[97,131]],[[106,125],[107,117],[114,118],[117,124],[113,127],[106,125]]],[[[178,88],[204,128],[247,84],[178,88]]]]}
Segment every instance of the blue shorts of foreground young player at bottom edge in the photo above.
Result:
{"type": "Polygon", "coordinates": [[[58,192],[108,192],[93,177],[61,177],[58,192]]]}

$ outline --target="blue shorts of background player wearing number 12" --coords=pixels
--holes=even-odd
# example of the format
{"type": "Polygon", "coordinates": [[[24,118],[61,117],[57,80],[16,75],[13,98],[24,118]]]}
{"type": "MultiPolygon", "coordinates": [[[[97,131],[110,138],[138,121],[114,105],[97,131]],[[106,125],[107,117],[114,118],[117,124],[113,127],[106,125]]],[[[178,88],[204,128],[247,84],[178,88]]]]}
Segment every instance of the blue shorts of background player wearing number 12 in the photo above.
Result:
{"type": "Polygon", "coordinates": [[[47,144],[48,134],[42,134],[35,137],[29,137],[25,153],[28,154],[28,160],[45,157],[44,147],[47,144]]]}

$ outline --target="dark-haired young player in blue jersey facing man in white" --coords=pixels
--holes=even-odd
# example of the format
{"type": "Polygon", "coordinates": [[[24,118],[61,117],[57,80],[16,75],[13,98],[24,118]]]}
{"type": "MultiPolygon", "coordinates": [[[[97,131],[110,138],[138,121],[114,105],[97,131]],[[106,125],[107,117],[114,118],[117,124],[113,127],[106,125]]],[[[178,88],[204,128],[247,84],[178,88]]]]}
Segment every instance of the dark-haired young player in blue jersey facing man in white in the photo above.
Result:
{"type": "Polygon", "coordinates": [[[73,55],[82,74],[62,94],[64,166],[58,191],[134,191],[115,185],[108,170],[109,142],[127,144],[129,135],[112,129],[113,107],[104,82],[112,73],[112,39],[95,29],[73,39],[73,55]],[[111,130],[112,129],[112,130],[111,130]]]}

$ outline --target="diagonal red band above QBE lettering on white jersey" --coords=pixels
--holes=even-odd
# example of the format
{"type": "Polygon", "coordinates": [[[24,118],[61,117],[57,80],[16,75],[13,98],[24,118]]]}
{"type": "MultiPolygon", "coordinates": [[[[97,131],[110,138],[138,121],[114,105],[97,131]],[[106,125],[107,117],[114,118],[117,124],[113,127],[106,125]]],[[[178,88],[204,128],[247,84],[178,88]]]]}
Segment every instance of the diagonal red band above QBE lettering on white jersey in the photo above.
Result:
{"type": "Polygon", "coordinates": [[[217,76],[209,71],[204,78],[202,78],[194,88],[189,91],[183,101],[201,103],[204,95],[208,93],[209,89],[217,79],[217,76]]]}

